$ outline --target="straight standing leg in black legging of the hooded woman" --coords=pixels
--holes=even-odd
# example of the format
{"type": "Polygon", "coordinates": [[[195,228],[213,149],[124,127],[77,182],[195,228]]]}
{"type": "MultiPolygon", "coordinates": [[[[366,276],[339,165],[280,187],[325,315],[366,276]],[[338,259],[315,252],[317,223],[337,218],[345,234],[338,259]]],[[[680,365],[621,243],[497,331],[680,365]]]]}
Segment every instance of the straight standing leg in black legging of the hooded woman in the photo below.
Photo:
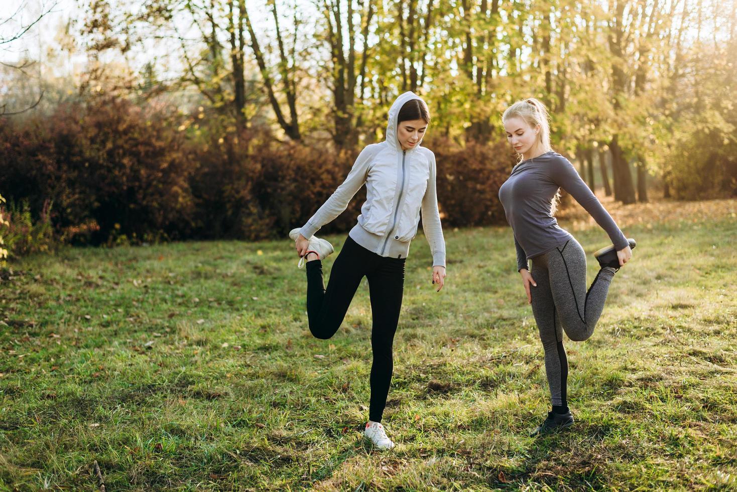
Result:
{"type": "Polygon", "coordinates": [[[394,333],[402,309],[405,285],[405,260],[378,258],[377,266],[368,275],[368,290],[371,295],[371,403],[368,419],[381,422],[386,397],[394,370],[394,333]]]}

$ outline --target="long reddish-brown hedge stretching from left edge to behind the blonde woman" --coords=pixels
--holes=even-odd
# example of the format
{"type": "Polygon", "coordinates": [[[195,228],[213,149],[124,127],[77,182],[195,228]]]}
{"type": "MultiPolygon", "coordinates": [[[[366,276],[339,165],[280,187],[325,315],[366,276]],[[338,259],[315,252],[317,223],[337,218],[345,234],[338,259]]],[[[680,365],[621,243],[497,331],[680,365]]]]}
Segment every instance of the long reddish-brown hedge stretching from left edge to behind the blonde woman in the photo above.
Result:
{"type": "MultiPolygon", "coordinates": [[[[53,203],[57,237],[77,243],[276,238],[307,222],[357,155],[217,122],[183,131],[185,121],[113,98],[0,120],[0,192],[28,204],[29,223],[53,203]]],[[[503,223],[497,193],[514,164],[506,144],[428,147],[444,224],[503,223]]],[[[362,189],[323,232],[348,231],[365,197],[362,189]]]]}

